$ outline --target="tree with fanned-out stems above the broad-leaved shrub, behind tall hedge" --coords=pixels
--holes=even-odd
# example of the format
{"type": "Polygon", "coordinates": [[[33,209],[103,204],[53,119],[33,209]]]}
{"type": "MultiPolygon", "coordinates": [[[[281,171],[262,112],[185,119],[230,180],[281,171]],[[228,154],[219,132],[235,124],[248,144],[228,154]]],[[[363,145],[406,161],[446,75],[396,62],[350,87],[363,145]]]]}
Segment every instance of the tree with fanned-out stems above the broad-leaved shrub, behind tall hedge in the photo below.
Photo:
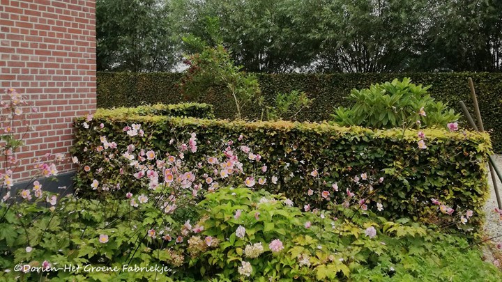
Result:
{"type": "Polygon", "coordinates": [[[420,41],[425,0],[326,1],[314,36],[322,40],[317,70],[398,72],[420,41]]]}

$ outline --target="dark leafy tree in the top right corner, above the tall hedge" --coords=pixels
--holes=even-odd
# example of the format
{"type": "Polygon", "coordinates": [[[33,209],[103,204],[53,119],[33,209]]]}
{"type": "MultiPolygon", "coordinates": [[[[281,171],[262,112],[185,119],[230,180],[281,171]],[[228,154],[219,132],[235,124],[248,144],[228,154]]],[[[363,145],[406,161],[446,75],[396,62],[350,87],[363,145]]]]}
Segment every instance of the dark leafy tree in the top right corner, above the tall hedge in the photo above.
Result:
{"type": "Polygon", "coordinates": [[[502,70],[502,1],[431,0],[417,70],[502,70]]]}

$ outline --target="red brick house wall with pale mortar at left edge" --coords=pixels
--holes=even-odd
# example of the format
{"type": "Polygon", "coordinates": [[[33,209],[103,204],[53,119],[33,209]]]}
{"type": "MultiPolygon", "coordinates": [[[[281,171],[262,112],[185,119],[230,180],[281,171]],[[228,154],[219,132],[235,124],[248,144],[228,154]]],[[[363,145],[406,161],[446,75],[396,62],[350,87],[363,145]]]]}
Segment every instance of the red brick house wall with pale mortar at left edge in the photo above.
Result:
{"type": "Polygon", "coordinates": [[[0,88],[39,110],[16,156],[18,177],[33,174],[28,165],[47,152],[68,153],[73,117],[96,109],[95,10],[96,0],[0,0],[0,88]]]}

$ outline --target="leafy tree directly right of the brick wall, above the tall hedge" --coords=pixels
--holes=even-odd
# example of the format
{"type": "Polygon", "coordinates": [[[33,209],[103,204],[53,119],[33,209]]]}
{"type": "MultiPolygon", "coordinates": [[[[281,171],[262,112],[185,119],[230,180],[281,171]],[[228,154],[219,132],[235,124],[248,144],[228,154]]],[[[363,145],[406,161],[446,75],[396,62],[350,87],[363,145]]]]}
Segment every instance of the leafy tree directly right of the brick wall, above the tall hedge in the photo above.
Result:
{"type": "Polygon", "coordinates": [[[169,6],[160,0],[97,0],[98,70],[171,70],[176,51],[169,6]]]}

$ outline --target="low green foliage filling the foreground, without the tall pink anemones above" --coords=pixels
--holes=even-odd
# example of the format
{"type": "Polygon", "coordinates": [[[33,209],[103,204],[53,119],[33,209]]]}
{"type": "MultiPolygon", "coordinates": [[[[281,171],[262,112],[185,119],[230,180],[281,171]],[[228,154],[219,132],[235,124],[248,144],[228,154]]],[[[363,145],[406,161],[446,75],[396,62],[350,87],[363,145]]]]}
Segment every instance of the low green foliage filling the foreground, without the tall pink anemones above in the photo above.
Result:
{"type": "Polygon", "coordinates": [[[172,213],[153,197],[56,199],[0,203],[2,281],[502,279],[462,237],[357,206],[302,212],[248,188],[172,213]]]}

